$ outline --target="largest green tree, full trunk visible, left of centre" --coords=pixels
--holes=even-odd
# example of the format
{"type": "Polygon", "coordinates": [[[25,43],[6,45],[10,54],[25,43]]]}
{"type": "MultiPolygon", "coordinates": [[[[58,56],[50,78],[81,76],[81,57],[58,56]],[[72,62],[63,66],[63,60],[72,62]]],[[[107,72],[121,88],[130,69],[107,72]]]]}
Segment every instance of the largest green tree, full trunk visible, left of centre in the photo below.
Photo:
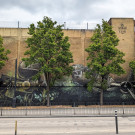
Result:
{"type": "Polygon", "coordinates": [[[72,73],[70,43],[68,37],[64,37],[62,27],[49,17],[37,22],[37,27],[31,24],[28,32],[31,37],[26,41],[28,50],[25,55],[28,57],[22,59],[26,65],[39,63],[40,68],[34,79],[38,79],[41,74],[45,76],[47,106],[50,104],[49,91],[55,80],[72,73]]]}

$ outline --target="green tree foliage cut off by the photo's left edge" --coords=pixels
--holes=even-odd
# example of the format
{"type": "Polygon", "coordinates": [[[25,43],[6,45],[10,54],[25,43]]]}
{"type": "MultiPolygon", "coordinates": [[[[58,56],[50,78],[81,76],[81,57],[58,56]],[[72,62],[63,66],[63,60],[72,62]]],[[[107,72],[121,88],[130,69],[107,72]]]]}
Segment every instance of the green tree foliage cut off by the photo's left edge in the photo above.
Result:
{"type": "Polygon", "coordinates": [[[3,47],[3,38],[0,36],[0,69],[5,66],[5,62],[8,60],[7,55],[10,53],[9,50],[5,50],[3,47]]]}

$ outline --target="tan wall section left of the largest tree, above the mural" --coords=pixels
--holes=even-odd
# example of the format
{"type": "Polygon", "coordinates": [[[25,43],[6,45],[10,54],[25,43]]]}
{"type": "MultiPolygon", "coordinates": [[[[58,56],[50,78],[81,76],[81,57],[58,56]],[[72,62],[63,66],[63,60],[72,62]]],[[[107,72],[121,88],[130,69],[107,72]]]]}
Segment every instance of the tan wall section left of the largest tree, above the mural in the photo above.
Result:
{"type": "Polygon", "coordinates": [[[1,74],[14,76],[15,59],[17,58],[19,63],[26,50],[25,40],[29,36],[27,32],[28,29],[0,28],[0,35],[4,39],[4,47],[11,51],[11,54],[8,55],[9,60],[6,62],[6,66],[0,71],[1,74]]]}

